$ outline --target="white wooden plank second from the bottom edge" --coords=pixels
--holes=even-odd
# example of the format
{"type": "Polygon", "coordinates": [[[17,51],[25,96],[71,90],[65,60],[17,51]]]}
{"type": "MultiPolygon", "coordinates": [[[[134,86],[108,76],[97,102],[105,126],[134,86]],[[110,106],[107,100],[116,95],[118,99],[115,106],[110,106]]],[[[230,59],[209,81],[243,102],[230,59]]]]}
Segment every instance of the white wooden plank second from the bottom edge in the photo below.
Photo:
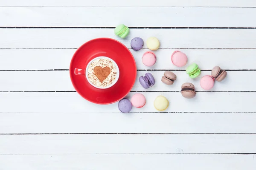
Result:
{"type": "Polygon", "coordinates": [[[0,139],[0,154],[152,154],[256,152],[256,147],[254,147],[256,142],[255,134],[1,135],[0,139]]]}

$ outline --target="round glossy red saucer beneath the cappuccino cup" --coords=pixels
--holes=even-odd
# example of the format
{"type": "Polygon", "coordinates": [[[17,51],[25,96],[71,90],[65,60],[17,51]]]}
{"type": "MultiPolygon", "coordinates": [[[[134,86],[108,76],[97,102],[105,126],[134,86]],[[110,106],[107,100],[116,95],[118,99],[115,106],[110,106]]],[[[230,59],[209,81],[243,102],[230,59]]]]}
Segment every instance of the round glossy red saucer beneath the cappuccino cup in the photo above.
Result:
{"type": "Polygon", "coordinates": [[[70,62],[70,79],[76,91],[90,102],[106,105],[124,98],[136,80],[136,63],[128,48],[111,38],[97,38],[84,43],[70,62]],[[105,56],[113,59],[119,68],[119,79],[107,89],[90,85],[85,76],[75,75],[75,68],[86,68],[93,58],[105,56]]]}

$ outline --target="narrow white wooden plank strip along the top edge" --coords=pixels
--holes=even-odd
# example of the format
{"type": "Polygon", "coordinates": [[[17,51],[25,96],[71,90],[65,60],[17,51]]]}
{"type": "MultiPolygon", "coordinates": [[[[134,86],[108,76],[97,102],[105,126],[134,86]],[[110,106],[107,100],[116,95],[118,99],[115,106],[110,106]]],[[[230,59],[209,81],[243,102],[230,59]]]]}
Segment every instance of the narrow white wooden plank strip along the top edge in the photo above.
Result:
{"type": "Polygon", "coordinates": [[[178,1],[166,1],[166,0],[158,0],[157,3],[154,1],[147,1],[144,0],[130,0],[129,3],[125,1],[119,0],[93,0],[93,1],[84,1],[84,0],[44,0],[44,1],[34,1],[34,0],[0,0],[0,6],[116,6],[116,7],[123,7],[123,6],[147,6],[147,7],[169,7],[169,6],[177,6],[177,7],[201,7],[201,6],[217,6],[217,7],[252,7],[256,6],[254,0],[211,0],[209,2],[205,0],[178,0],[178,1]]]}

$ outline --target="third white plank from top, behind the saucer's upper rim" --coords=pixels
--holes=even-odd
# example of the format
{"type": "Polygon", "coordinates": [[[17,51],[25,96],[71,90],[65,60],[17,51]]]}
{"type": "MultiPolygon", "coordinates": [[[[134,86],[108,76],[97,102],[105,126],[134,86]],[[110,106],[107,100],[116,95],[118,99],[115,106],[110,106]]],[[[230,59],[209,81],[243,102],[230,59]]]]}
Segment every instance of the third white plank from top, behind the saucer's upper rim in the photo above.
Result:
{"type": "MultiPolygon", "coordinates": [[[[255,48],[256,29],[133,29],[126,39],[114,29],[1,29],[1,48],[78,48],[88,40],[109,37],[130,46],[131,39],[154,36],[160,48],[255,48]],[[236,36],[234,36],[236,35],[236,36]]],[[[146,46],[145,46],[146,48],[146,46]]]]}

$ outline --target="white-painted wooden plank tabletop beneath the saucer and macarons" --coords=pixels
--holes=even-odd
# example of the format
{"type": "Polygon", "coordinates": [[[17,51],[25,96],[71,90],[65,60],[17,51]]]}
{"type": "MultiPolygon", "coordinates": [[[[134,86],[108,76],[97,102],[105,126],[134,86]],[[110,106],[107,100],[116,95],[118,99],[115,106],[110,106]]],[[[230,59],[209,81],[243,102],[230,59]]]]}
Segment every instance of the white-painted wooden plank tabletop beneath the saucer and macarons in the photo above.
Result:
{"type": "Polygon", "coordinates": [[[255,0],[0,0],[0,170],[255,170],[255,16],[255,0]],[[120,23],[126,40],[113,34],[120,23]],[[146,45],[131,50],[137,79],[150,69],[157,81],[128,95],[144,94],[144,108],[119,113],[76,93],[68,68],[80,45],[110,37],[131,48],[151,36],[161,42],[152,68],[146,45]],[[219,65],[226,80],[205,92],[172,65],[177,49],[200,77],[219,65]],[[174,85],[160,82],[165,70],[174,85]],[[183,82],[195,99],[181,96],[183,82]],[[163,113],[158,95],[170,102],[163,113]]]}

